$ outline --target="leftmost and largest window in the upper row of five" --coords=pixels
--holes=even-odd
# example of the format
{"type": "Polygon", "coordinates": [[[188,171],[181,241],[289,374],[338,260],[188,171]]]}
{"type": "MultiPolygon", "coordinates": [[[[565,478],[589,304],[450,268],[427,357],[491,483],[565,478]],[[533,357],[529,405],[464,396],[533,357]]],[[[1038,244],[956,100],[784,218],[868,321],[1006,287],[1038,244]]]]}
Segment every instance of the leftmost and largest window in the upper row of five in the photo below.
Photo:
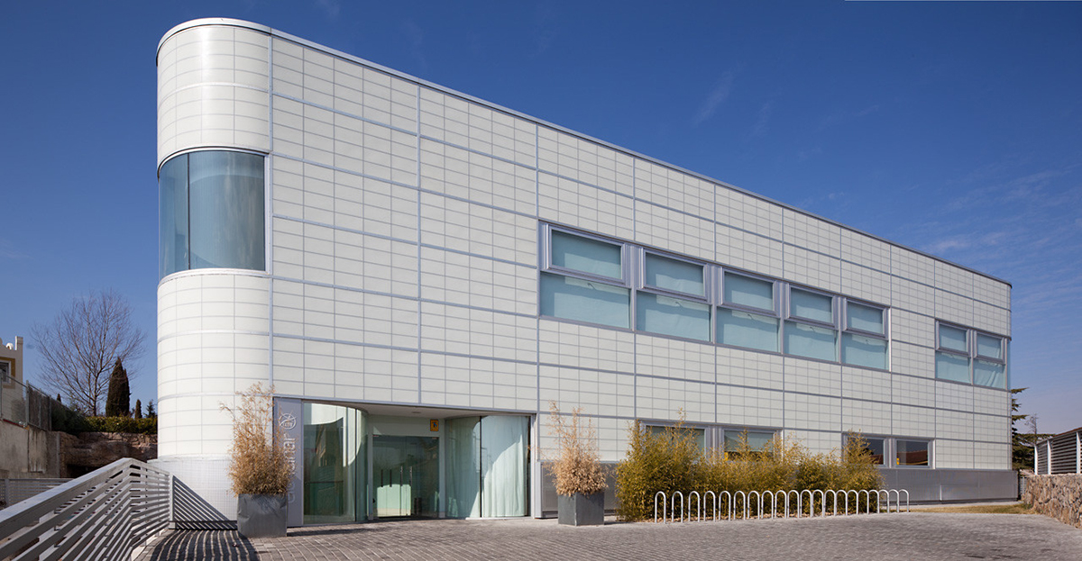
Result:
{"type": "Polygon", "coordinates": [[[542,316],[631,326],[631,289],[624,246],[549,229],[546,271],[541,273],[542,316]]]}

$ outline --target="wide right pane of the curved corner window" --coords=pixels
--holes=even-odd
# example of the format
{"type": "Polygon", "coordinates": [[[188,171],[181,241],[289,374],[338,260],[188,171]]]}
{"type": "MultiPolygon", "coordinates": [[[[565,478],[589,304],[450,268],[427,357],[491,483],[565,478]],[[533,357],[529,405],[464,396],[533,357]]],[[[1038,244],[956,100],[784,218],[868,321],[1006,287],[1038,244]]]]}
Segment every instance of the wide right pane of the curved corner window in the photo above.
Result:
{"type": "Polygon", "coordinates": [[[263,157],[188,155],[190,267],[264,269],[263,157]]]}

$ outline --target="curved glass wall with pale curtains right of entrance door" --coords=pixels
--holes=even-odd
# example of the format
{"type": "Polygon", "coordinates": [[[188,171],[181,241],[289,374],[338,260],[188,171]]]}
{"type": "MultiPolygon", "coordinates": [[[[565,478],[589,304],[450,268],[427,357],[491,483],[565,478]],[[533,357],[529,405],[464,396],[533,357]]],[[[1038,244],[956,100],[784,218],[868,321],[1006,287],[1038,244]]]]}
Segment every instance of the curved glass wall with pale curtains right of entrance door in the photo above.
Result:
{"type": "Polygon", "coordinates": [[[529,417],[447,422],[447,516],[528,515],[529,417]]]}

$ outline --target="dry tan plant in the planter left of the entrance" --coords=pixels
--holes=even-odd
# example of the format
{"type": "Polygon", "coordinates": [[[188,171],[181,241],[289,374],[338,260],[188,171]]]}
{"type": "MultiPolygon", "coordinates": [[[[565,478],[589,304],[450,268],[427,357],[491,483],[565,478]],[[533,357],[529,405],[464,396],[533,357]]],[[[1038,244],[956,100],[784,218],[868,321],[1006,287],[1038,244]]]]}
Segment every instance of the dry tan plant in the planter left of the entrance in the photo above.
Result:
{"type": "Polygon", "coordinates": [[[293,465],[286,456],[282,433],[274,423],[274,388],[255,384],[237,393],[235,408],[221,403],[233,417],[229,480],[237,495],[281,495],[289,489],[293,465]]]}

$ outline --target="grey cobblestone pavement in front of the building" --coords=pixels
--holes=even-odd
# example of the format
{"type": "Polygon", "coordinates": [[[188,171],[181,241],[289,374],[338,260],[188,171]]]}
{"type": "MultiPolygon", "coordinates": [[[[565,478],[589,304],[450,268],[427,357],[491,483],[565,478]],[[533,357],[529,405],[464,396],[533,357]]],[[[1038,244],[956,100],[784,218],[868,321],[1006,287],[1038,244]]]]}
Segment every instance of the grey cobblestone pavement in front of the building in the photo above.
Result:
{"type": "Polygon", "coordinates": [[[428,520],[166,534],[138,561],[1082,559],[1082,530],[1038,515],[908,512],[828,519],[569,527],[555,520],[428,520]]]}

